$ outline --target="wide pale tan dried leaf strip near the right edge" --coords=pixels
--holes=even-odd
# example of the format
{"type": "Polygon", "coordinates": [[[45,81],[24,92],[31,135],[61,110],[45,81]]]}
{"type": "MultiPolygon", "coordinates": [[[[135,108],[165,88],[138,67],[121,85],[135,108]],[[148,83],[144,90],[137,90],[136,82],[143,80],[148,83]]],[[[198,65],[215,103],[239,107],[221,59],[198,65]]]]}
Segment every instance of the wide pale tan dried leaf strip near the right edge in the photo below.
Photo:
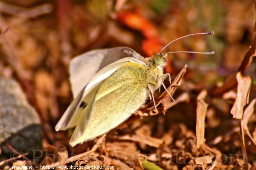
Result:
{"type": "Polygon", "coordinates": [[[242,76],[241,72],[236,74],[236,79],[238,82],[237,85],[237,96],[236,101],[231,109],[231,114],[235,119],[242,119],[244,106],[248,104],[249,100],[249,93],[250,93],[250,86],[251,86],[251,79],[249,76],[242,76]]]}

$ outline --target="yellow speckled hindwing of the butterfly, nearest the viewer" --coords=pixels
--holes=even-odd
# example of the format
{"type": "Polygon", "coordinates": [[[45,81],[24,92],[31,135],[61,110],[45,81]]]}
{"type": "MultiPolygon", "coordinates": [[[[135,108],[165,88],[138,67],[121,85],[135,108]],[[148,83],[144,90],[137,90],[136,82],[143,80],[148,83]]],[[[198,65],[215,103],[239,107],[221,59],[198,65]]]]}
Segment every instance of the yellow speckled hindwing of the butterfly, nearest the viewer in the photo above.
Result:
{"type": "Polygon", "coordinates": [[[91,108],[87,126],[81,118],[70,145],[92,140],[124,122],[146,100],[147,69],[129,62],[102,82],[91,108]]]}

